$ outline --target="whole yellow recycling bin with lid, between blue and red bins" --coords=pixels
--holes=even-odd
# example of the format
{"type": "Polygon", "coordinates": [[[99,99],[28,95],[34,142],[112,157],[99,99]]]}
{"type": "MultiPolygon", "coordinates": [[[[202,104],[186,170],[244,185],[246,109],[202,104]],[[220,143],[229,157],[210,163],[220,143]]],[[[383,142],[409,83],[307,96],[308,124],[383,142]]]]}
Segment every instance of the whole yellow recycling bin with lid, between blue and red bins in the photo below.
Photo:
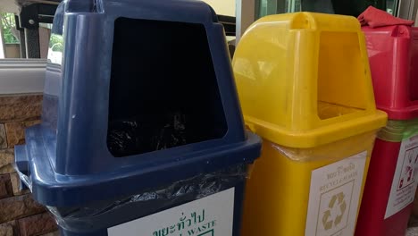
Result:
{"type": "Polygon", "coordinates": [[[247,181],[242,235],[352,236],[376,132],[364,35],[354,17],[256,21],[233,68],[263,155],[247,181]]]}

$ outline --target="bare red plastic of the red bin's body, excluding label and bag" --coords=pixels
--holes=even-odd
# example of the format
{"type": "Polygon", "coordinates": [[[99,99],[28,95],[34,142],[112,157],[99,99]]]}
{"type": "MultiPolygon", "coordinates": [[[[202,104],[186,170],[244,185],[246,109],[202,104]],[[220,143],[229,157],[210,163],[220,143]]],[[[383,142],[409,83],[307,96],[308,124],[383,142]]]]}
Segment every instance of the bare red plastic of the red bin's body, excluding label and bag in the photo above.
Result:
{"type": "Polygon", "coordinates": [[[405,236],[412,204],[385,220],[401,143],[376,139],[355,236],[405,236]]]}

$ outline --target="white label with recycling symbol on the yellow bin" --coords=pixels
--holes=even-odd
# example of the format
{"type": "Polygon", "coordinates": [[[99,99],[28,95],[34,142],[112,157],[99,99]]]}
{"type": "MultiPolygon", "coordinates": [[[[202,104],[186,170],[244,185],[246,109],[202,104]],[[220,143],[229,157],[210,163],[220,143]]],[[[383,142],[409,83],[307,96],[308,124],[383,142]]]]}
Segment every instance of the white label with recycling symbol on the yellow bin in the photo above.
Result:
{"type": "Polygon", "coordinates": [[[311,175],[305,236],[353,236],[367,152],[311,175]]]}

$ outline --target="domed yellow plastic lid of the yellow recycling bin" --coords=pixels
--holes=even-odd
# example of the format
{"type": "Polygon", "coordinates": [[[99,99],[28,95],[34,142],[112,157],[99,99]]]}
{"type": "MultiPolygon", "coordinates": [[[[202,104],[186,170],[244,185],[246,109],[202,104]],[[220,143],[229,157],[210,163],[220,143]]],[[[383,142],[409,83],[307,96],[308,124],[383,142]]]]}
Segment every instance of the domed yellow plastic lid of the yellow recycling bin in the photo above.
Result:
{"type": "Polygon", "coordinates": [[[351,16],[288,13],[255,21],[233,59],[247,125],[287,147],[317,147],[379,130],[359,22],[351,16]]]}

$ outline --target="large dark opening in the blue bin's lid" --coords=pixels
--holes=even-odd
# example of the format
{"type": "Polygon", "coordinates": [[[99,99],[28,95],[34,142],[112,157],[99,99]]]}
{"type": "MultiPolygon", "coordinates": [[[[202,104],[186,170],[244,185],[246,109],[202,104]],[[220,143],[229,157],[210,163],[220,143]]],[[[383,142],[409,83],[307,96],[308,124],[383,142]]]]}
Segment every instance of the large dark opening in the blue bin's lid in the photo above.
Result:
{"type": "Polygon", "coordinates": [[[118,18],[109,92],[107,147],[116,157],[228,130],[202,24],[118,18]]]}

